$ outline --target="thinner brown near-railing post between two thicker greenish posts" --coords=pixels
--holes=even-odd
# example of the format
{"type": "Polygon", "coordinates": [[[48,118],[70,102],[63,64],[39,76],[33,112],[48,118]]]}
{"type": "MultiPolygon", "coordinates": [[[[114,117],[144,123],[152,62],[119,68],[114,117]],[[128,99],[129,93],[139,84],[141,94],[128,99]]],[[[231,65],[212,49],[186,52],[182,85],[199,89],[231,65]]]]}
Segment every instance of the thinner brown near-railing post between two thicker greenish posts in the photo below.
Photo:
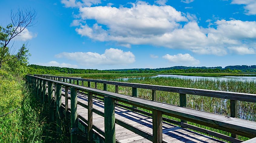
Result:
{"type": "Polygon", "coordinates": [[[88,141],[92,142],[92,92],[88,93],[88,141]]]}

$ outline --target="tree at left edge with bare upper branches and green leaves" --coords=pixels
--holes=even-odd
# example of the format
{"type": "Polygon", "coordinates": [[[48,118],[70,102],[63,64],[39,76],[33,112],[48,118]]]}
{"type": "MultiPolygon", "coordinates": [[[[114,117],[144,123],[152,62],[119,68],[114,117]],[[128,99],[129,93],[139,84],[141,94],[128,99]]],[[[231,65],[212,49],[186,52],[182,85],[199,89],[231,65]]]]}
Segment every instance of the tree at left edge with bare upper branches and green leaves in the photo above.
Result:
{"type": "Polygon", "coordinates": [[[22,73],[28,64],[27,44],[20,48],[14,46],[15,37],[21,36],[27,27],[33,26],[36,12],[30,9],[18,9],[16,13],[11,12],[11,23],[0,26],[0,70],[22,73]]]}

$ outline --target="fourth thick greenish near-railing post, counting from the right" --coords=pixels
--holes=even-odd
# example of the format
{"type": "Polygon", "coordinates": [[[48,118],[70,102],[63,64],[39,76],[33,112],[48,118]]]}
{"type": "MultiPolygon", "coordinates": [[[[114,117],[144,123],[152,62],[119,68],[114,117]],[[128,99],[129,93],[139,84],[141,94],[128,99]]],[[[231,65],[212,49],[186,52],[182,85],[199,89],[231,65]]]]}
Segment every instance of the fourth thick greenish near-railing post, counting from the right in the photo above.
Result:
{"type": "Polygon", "coordinates": [[[49,106],[49,121],[54,121],[54,101],[53,101],[53,83],[51,81],[48,81],[48,106],[49,106]]]}

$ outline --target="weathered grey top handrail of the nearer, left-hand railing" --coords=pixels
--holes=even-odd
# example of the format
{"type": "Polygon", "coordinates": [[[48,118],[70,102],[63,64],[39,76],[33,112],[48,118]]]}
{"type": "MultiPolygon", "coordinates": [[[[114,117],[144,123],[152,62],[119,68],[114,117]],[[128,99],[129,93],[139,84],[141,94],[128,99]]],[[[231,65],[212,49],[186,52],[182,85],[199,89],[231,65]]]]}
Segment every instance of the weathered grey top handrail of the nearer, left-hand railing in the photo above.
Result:
{"type": "Polygon", "coordinates": [[[80,85],[70,84],[66,82],[56,81],[52,79],[46,79],[38,76],[36,78],[51,81],[61,85],[66,85],[69,87],[74,87],[78,90],[85,92],[93,92],[94,94],[99,94],[107,97],[114,98],[117,101],[135,105],[137,107],[142,107],[145,109],[153,109],[163,112],[163,114],[177,117],[183,120],[191,121],[194,123],[199,123],[201,125],[216,125],[217,129],[224,131],[236,132],[240,135],[246,135],[249,137],[254,137],[256,135],[256,122],[242,120],[238,118],[227,117],[224,115],[218,115],[214,113],[203,112],[199,110],[194,110],[190,108],[179,107],[175,105],[165,104],[156,101],[150,101],[142,98],[131,97],[127,95],[121,95],[118,93],[102,91],[99,89],[93,89],[89,87],[84,87],[80,85]],[[238,132],[239,131],[239,132],[238,132]]]}

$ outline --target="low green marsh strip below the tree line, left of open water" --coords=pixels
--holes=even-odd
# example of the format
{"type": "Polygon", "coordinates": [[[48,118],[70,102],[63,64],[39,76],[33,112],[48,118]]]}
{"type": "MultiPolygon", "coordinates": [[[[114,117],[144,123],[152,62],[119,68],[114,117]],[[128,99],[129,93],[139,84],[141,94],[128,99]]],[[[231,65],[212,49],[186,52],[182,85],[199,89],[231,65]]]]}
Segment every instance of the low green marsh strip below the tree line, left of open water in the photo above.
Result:
{"type": "Polygon", "coordinates": [[[55,76],[81,77],[84,79],[115,79],[157,76],[153,73],[88,73],[88,74],[56,74],[55,76]]]}

